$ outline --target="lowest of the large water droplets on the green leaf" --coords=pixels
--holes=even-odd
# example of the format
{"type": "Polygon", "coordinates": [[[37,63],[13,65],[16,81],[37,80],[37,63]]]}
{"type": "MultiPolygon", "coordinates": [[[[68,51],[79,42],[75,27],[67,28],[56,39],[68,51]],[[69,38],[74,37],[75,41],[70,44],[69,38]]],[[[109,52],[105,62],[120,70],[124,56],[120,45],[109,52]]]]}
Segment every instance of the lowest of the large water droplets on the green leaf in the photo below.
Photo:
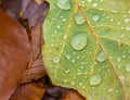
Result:
{"type": "Polygon", "coordinates": [[[92,75],[92,76],[90,77],[89,84],[90,84],[91,86],[96,86],[96,85],[100,85],[101,82],[102,82],[101,75],[95,74],[95,75],[92,75]]]}

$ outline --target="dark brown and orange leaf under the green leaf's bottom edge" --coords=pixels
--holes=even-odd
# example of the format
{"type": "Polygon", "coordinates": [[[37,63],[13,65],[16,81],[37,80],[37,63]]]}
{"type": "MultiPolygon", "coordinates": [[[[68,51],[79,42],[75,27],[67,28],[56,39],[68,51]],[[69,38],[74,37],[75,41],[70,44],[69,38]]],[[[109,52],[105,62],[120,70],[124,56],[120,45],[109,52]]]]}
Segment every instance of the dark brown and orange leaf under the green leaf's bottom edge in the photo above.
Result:
{"type": "Polygon", "coordinates": [[[47,89],[42,100],[86,100],[76,90],[54,86],[47,89]]]}

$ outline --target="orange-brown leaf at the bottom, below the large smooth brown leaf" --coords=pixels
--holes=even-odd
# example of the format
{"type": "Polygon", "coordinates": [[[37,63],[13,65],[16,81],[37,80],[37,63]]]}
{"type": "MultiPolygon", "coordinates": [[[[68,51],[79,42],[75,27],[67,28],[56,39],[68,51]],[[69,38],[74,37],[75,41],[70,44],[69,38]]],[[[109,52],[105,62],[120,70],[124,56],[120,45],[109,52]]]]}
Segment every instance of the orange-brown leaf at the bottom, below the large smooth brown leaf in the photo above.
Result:
{"type": "Polygon", "coordinates": [[[46,88],[42,82],[32,82],[29,84],[21,85],[11,100],[41,100],[46,88]]]}

